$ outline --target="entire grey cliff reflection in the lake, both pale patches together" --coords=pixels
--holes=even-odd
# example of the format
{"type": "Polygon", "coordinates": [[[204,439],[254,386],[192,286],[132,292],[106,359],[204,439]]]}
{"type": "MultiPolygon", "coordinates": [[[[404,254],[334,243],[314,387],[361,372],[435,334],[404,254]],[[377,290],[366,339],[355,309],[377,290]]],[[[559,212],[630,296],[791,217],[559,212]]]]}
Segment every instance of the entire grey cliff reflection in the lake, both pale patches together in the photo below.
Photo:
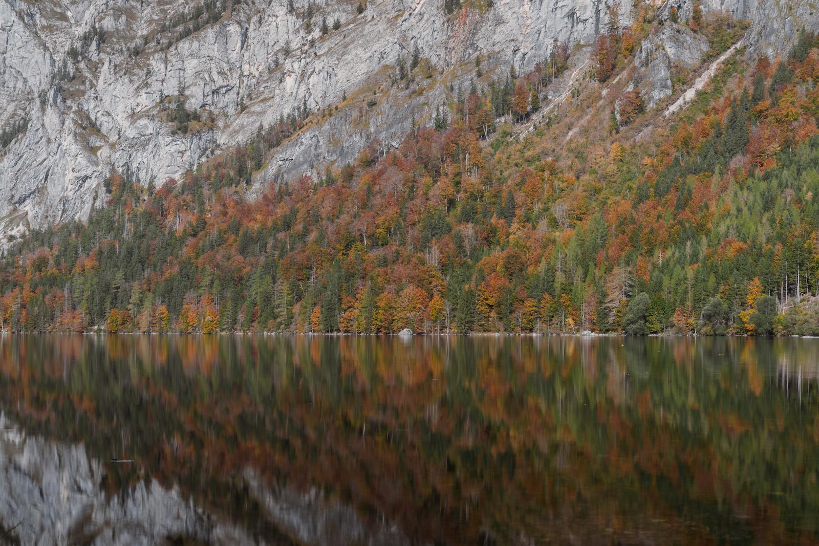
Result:
{"type": "MultiPolygon", "coordinates": [[[[105,472],[82,444],[28,436],[0,413],[0,527],[20,544],[266,544],[156,481],[108,496],[105,472]]],[[[270,522],[300,542],[408,543],[394,526],[373,533],[352,508],[316,492],[271,491],[250,470],[245,479],[270,522]]]]}

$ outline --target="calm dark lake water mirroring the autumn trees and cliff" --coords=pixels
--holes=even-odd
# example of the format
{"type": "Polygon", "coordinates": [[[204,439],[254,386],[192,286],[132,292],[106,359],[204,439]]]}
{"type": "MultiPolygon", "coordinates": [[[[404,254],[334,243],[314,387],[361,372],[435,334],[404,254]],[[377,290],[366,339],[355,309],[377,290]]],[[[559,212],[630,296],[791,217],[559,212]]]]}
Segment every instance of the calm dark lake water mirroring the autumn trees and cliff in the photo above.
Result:
{"type": "Polygon", "coordinates": [[[819,340],[0,336],[0,544],[819,541],[819,340]]]}

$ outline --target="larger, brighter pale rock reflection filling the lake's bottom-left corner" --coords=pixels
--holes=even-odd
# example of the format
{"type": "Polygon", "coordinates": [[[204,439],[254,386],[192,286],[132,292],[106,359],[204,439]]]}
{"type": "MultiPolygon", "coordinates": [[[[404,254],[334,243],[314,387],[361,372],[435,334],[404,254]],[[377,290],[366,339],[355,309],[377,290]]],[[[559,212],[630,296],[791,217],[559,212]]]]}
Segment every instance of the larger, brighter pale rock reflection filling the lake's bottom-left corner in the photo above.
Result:
{"type": "Polygon", "coordinates": [[[0,415],[0,525],[20,544],[162,544],[168,539],[255,544],[177,490],[140,483],[108,497],[105,469],[82,444],[29,437],[0,415]]]}

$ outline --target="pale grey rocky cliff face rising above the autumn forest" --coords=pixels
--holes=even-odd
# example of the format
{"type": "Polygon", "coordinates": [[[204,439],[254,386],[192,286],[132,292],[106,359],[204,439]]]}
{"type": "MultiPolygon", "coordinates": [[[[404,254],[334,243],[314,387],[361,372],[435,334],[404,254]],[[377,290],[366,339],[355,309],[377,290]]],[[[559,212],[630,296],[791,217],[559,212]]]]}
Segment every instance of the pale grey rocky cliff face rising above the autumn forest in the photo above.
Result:
{"type": "MultiPolygon", "coordinates": [[[[165,183],[305,106],[321,115],[258,176],[351,160],[428,121],[474,77],[476,56],[487,71],[527,70],[556,43],[593,43],[610,12],[602,0],[470,1],[450,13],[445,3],[371,0],[359,13],[355,2],[210,0],[197,16],[169,0],[0,0],[0,127],[28,122],[0,151],[0,230],[82,218],[111,169],[165,183]],[[396,85],[398,57],[416,47],[423,70],[396,85]],[[180,101],[200,119],[187,131],[169,117],[180,101]]],[[[614,4],[622,22],[630,4],[614,4]]],[[[658,9],[672,4],[690,11],[690,0],[658,9]]],[[[781,51],[817,20],[798,0],[703,6],[753,17],[759,52],[781,51]]]]}

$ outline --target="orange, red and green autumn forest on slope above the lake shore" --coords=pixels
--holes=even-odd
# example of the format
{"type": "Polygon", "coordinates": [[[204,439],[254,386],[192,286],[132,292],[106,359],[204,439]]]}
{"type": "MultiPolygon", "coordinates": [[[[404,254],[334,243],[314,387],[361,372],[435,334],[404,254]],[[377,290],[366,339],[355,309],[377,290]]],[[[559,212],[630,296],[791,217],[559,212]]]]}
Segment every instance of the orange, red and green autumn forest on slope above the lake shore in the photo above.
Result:
{"type": "MultiPolygon", "coordinates": [[[[604,37],[590,79],[647,32],[604,37]]],[[[819,335],[819,38],[732,57],[669,122],[623,92],[572,139],[599,91],[538,115],[566,54],[478,62],[428,126],[320,177],[255,176],[306,111],[161,187],[112,173],[87,221],[6,250],[0,326],[819,335]]]]}

